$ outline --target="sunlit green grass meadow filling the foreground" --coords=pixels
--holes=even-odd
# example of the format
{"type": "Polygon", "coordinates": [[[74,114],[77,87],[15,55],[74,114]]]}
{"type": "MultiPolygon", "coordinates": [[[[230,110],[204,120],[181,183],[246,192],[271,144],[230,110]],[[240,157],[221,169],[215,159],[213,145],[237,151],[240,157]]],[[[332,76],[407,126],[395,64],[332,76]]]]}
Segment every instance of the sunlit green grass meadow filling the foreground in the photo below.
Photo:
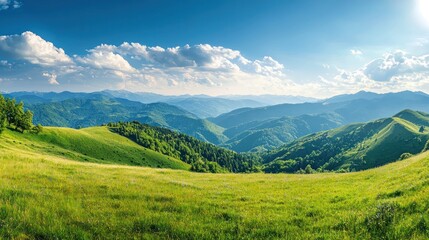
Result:
{"type": "Polygon", "coordinates": [[[429,237],[428,153],[347,174],[199,174],[72,161],[40,138],[0,137],[3,238],[429,237]]]}

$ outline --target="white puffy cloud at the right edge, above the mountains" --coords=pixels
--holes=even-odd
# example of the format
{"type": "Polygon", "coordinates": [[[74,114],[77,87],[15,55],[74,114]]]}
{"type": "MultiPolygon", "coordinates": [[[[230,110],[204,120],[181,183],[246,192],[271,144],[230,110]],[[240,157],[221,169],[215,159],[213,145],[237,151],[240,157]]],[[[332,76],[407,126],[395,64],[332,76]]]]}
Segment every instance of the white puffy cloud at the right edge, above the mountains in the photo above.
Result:
{"type": "Polygon", "coordinates": [[[412,56],[404,51],[386,53],[354,71],[337,68],[331,79],[320,77],[320,87],[334,94],[367,90],[429,90],[429,55],[412,56]]]}

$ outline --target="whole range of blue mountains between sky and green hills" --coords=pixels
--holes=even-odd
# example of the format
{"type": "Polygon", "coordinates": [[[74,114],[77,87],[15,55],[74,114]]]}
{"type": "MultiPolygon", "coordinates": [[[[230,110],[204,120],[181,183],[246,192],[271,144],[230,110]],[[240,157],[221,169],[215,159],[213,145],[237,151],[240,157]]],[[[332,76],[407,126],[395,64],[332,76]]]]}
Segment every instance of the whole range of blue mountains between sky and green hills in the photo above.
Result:
{"type": "Polygon", "coordinates": [[[43,125],[80,128],[139,121],[237,152],[273,150],[308,134],[389,117],[403,109],[429,112],[429,95],[411,91],[361,91],[316,102],[262,107],[258,97],[249,100],[250,96],[164,96],[126,91],[15,92],[6,96],[24,101],[34,112],[35,123],[43,125]],[[157,102],[148,103],[151,101],[157,102]]]}

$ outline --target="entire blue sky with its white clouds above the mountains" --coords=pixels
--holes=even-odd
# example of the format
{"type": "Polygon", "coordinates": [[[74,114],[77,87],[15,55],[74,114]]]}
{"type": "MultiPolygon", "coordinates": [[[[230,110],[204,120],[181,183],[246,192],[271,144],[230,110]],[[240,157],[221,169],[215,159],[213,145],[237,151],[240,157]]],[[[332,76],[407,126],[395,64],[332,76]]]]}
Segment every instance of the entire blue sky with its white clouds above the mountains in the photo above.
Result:
{"type": "Polygon", "coordinates": [[[0,91],[429,91],[428,1],[0,0],[0,91]]]}

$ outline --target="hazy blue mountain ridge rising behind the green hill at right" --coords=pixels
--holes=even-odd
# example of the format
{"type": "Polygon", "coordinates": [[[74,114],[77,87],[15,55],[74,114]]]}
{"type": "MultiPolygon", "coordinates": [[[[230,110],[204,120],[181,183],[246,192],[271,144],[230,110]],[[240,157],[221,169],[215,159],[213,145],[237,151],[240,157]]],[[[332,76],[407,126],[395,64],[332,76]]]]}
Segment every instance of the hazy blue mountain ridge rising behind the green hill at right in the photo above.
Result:
{"type": "Polygon", "coordinates": [[[345,123],[353,123],[392,116],[403,109],[428,112],[429,95],[411,91],[387,94],[360,92],[357,95],[337,96],[316,103],[280,104],[237,109],[212,118],[211,121],[224,128],[231,128],[247,122],[285,116],[336,113],[344,118],[345,123]]]}

